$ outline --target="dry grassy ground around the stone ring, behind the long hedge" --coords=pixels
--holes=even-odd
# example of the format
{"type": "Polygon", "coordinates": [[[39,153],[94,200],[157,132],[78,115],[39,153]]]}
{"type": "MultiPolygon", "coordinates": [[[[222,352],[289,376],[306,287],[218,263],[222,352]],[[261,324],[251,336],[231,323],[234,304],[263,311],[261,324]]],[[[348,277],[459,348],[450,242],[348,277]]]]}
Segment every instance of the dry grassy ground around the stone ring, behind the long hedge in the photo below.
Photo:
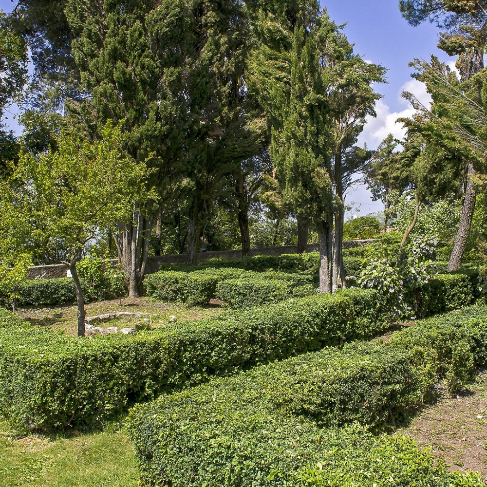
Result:
{"type": "MultiPolygon", "coordinates": [[[[139,298],[111,301],[98,301],[85,305],[86,316],[98,316],[111,313],[128,312],[143,313],[148,316],[128,317],[111,320],[105,323],[94,323],[95,326],[117,326],[124,328],[137,324],[144,325],[144,318],[150,318],[150,328],[163,326],[168,322],[169,315],[175,316],[178,321],[187,321],[199,318],[210,318],[221,313],[219,305],[208,304],[206,306],[189,307],[180,303],[162,303],[151,298],[139,298]],[[150,315],[150,316],[149,316],[150,315]]],[[[18,315],[35,326],[50,328],[53,332],[62,332],[66,335],[77,334],[77,308],[72,304],[46,306],[46,307],[19,307],[18,315]]]]}

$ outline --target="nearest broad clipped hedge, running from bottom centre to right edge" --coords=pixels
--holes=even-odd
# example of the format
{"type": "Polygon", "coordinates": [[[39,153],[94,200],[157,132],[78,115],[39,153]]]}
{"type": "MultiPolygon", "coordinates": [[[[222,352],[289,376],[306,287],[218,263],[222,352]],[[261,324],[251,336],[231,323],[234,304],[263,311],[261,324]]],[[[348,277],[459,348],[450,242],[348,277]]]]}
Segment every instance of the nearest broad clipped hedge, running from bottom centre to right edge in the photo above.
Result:
{"type": "MultiPolygon", "coordinates": [[[[375,447],[381,451],[380,440],[359,434],[358,442],[346,438],[340,447],[340,436],[322,427],[392,421],[423,402],[441,375],[454,387],[486,361],[487,307],[473,307],[421,322],[385,344],[327,348],[136,406],[130,436],[151,485],[476,486],[475,476],[449,484],[444,466],[435,470],[427,456],[429,468],[398,468],[407,479],[391,481],[385,475],[392,458],[384,469],[367,462],[375,447]],[[349,462],[348,454],[357,453],[362,462],[349,462]],[[334,462],[350,483],[333,478],[334,462]],[[371,471],[376,478],[367,478],[371,471]]],[[[401,442],[386,444],[394,451],[401,442]]],[[[398,466],[403,454],[395,458],[398,466]]]]}

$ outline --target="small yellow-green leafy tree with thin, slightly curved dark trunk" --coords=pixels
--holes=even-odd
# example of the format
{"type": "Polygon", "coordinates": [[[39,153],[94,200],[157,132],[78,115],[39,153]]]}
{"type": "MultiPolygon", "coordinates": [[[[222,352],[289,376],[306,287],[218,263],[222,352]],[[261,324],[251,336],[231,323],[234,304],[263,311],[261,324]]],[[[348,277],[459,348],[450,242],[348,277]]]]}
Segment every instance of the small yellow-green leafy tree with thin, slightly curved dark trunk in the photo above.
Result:
{"type": "MultiPolygon", "coordinates": [[[[26,208],[31,231],[25,245],[41,246],[52,261],[69,266],[78,306],[78,336],[85,333],[83,290],[76,271],[83,248],[100,229],[131,221],[133,208],[148,196],[148,170],[124,154],[122,143],[119,128],[110,122],[93,144],[64,133],[56,152],[22,154],[5,184],[8,187],[2,188],[4,211],[12,202],[26,208]],[[59,253],[58,248],[64,250],[59,253]]],[[[2,213],[0,218],[9,218],[2,213]]]]}

